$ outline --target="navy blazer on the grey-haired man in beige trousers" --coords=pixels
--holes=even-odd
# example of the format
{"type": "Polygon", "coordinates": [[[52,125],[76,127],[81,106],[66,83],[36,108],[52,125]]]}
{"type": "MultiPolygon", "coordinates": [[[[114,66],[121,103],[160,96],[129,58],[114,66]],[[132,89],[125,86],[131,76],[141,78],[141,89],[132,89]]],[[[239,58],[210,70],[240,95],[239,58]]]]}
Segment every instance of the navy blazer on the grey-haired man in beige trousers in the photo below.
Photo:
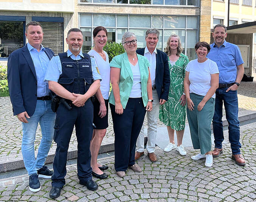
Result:
{"type": "MultiPolygon", "coordinates": [[[[137,54],[144,55],[145,48],[137,49],[137,54]]],[[[156,92],[158,98],[167,101],[170,88],[170,71],[167,54],[156,49],[156,92]]]]}

